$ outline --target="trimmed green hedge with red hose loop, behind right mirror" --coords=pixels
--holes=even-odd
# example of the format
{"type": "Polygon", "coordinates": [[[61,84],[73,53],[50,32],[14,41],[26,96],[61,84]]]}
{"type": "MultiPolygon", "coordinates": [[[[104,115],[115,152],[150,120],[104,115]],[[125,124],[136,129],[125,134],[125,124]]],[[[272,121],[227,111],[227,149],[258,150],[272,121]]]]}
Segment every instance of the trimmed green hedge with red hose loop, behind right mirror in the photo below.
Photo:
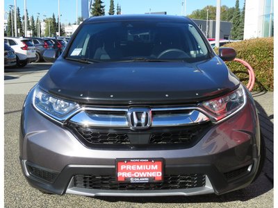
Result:
{"type": "MultiPolygon", "coordinates": [[[[255,92],[273,91],[274,81],[274,42],[273,37],[255,38],[225,44],[236,50],[236,58],[247,61],[254,69],[256,82],[252,89],[255,92]]],[[[247,85],[247,69],[238,62],[227,62],[227,66],[240,80],[247,85]]]]}

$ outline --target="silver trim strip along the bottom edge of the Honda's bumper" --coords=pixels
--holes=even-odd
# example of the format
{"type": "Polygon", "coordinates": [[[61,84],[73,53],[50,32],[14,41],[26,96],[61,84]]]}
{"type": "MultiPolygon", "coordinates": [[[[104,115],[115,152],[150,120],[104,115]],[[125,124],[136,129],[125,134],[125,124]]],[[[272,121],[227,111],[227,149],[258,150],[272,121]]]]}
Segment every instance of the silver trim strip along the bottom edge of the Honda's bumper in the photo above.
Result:
{"type": "Polygon", "coordinates": [[[201,194],[214,193],[213,186],[206,176],[204,187],[190,189],[169,189],[169,190],[103,190],[103,189],[83,189],[74,187],[74,178],[70,181],[66,193],[82,196],[195,196],[201,194]]]}

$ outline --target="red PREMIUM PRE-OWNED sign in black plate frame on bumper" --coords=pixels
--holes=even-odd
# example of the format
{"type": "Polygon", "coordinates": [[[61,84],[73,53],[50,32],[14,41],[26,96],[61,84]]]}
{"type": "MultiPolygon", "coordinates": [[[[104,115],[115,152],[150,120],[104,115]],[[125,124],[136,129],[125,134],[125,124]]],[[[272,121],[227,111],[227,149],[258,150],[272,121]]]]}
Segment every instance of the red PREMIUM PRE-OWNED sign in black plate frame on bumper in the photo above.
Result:
{"type": "Polygon", "coordinates": [[[162,159],[117,159],[117,182],[163,182],[162,159]]]}

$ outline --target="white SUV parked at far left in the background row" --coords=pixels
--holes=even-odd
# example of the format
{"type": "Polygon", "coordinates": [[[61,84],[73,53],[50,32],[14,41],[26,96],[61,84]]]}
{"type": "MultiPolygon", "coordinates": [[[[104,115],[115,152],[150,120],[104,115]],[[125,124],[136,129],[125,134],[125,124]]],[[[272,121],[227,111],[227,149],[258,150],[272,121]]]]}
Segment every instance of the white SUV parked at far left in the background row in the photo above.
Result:
{"type": "Polygon", "coordinates": [[[15,50],[17,67],[24,67],[29,62],[36,60],[35,46],[30,40],[17,37],[5,37],[5,42],[15,50]]]}

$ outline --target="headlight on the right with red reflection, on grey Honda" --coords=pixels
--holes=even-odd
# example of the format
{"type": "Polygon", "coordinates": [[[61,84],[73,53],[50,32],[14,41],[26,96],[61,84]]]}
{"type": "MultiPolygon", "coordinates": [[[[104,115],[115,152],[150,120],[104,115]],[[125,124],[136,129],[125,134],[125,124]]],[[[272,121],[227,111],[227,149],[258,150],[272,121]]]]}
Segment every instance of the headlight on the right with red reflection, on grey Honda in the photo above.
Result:
{"type": "Polygon", "coordinates": [[[206,112],[209,112],[216,121],[239,111],[246,103],[246,95],[243,86],[225,96],[205,101],[201,104],[206,112]]]}

